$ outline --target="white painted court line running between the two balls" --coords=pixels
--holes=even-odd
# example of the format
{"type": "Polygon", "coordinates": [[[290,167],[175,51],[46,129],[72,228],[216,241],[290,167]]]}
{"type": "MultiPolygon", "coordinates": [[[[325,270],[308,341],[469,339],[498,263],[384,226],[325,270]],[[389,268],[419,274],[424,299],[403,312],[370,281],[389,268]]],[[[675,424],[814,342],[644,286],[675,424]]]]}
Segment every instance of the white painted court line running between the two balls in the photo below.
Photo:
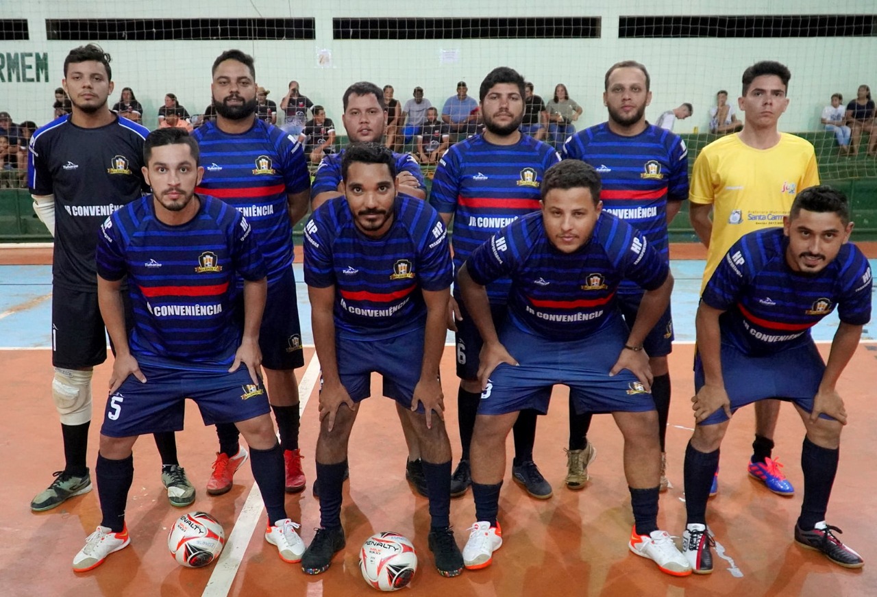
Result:
{"type": "MultiPolygon", "coordinates": [[[[301,383],[298,384],[299,412],[304,411],[310,399],[310,393],[317,385],[320,374],[320,361],[317,353],[311,357],[308,368],[304,371],[301,383]]],[[[225,541],[225,549],[219,556],[210,580],[204,587],[201,597],[225,597],[232,588],[234,577],[238,573],[241,562],[244,559],[246,546],[253,539],[253,531],[259,525],[259,520],[264,510],[262,494],[259,486],[253,483],[250,494],[246,496],[244,507],[240,509],[238,520],[234,523],[232,534],[225,541]]]]}

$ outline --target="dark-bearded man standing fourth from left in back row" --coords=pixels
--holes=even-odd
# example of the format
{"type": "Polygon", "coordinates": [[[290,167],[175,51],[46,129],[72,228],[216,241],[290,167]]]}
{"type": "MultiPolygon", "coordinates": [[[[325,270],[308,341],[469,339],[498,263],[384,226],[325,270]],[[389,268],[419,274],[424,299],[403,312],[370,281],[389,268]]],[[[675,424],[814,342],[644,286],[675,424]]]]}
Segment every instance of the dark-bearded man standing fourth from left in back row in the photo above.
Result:
{"type": "MultiPolygon", "coordinates": [[[[430,203],[445,225],[454,220],[453,262],[457,272],[494,232],[539,209],[542,175],[560,160],[551,146],[519,131],[524,117],[524,78],[517,71],[508,67],[490,71],[481,82],[479,95],[485,130],[452,146],[439,160],[430,195],[430,203]]],[[[506,316],[509,288],[508,278],[488,286],[497,326],[506,316]]],[[[448,327],[456,332],[460,378],[457,404],[462,455],[451,486],[456,497],[464,494],[472,482],[469,446],[481,402],[477,375],[481,336],[457,287],[451,299],[448,327]]],[[[531,496],[545,500],[552,496],[552,488],[533,463],[536,416],[535,410],[523,410],[515,424],[512,478],[531,496]]]]}

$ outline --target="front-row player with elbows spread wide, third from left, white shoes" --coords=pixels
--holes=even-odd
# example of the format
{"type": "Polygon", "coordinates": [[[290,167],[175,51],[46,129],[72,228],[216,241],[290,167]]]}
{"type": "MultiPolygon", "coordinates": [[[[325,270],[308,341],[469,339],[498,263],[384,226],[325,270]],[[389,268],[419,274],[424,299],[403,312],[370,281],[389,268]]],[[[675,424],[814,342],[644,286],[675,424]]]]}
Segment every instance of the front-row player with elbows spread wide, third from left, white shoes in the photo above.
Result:
{"type": "Polygon", "coordinates": [[[667,310],[673,277],[667,259],[631,224],[602,212],[600,175],[564,160],[542,180],[542,209],[503,227],[474,250],[457,281],[484,345],[481,405],[472,437],[476,521],[463,560],[488,566],[503,544],[497,521],[505,439],[517,413],[545,413],[555,384],[570,388],[577,412],[610,412],[624,436],[624,473],[634,527],[629,548],[661,571],[691,568],[673,538],[658,529],[660,443],[643,341],[667,310]],[[511,280],[509,316],[496,328],[486,286],[511,280]],[[628,329],[617,288],[645,289],[628,329]]]}

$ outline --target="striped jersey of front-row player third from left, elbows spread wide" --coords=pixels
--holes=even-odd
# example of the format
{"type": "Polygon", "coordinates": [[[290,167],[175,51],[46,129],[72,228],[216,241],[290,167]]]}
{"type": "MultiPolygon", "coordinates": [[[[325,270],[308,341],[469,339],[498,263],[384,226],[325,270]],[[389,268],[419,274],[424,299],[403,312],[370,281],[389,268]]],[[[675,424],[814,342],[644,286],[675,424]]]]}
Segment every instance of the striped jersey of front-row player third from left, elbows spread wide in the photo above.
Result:
{"type": "Polygon", "coordinates": [[[584,338],[619,317],[615,297],[622,280],[653,290],[670,271],[631,224],[605,212],[576,252],[560,252],[551,244],[537,211],[497,231],[466,264],[481,285],[509,277],[511,321],[554,340],[584,338]]]}

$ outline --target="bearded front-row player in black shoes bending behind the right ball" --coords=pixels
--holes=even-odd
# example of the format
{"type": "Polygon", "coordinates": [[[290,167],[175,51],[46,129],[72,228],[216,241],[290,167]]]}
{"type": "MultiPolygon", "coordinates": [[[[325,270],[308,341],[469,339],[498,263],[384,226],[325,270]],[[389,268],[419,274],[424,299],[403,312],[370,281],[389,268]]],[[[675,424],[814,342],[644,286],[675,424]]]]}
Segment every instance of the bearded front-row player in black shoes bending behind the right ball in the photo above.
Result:
{"type": "Polygon", "coordinates": [[[439,214],[398,192],[396,162],[380,143],[348,147],[341,161],[344,196],[324,203],[304,229],[304,280],[323,369],[320,528],[302,558],[308,574],[324,572],[345,546],[347,442],[375,372],[383,376],[383,394],[401,405],[417,433],[436,568],[443,576],[463,570],[450,528],[451,444],[439,380],[453,266],[439,214]]]}

